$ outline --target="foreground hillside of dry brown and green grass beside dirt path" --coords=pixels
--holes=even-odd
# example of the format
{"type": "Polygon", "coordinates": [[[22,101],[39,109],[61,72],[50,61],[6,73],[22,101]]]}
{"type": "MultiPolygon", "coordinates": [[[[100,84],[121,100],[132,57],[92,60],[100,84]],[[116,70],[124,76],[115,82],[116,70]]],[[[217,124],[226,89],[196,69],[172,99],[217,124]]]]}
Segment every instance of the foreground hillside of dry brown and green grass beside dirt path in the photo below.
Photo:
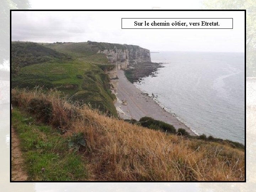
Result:
{"type": "Polygon", "coordinates": [[[56,91],[13,89],[11,94],[12,125],[31,180],[245,179],[244,150],[229,143],[130,124],[86,105],[71,105],[56,91]]]}

